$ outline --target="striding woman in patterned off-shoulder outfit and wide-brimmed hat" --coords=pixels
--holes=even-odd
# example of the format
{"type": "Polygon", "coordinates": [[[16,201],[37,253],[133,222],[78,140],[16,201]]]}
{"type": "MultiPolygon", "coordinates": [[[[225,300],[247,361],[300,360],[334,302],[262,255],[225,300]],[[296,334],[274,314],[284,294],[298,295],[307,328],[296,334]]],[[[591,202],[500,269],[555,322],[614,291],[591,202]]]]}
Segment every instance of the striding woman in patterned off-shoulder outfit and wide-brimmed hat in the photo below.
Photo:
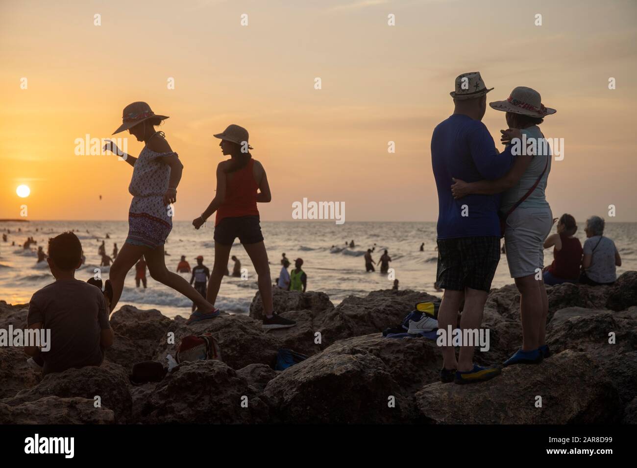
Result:
{"type": "Polygon", "coordinates": [[[128,213],[128,237],[110,268],[104,292],[111,296],[110,309],[113,311],[122,295],[126,274],[144,257],[155,281],[185,295],[201,311],[218,315],[219,311],[187,280],[166,268],[164,244],[173,228],[169,205],[177,200],[177,186],[183,171],[183,164],[171,150],[164,133],[155,130],[155,126],[166,118],[155,115],[147,103],[129,104],[124,108],[122,125],[113,135],[127,130],[138,141],[143,141],[145,145],[140,155],[132,157],[122,153],[112,141],[104,145],[104,149],[116,153],[132,166],[128,190],[133,195],[128,213]]]}

